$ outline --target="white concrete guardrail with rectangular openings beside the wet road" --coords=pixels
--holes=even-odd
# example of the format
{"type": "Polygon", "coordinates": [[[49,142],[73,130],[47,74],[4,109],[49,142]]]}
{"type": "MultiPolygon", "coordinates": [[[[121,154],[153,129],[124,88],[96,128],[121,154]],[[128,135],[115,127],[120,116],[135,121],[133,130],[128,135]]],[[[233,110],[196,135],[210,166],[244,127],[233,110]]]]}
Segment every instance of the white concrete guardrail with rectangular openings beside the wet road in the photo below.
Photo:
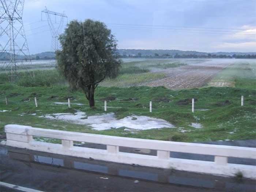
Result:
{"type": "Polygon", "coordinates": [[[244,177],[256,179],[256,166],[227,163],[228,157],[256,159],[256,148],[169,142],[149,139],[123,138],[89,133],[34,128],[23,125],[5,125],[7,146],[27,148],[48,153],[93,158],[126,164],[184,170],[189,172],[244,177]],[[33,136],[61,139],[62,144],[35,141],[33,136]],[[76,147],[73,141],[105,144],[106,150],[76,147]],[[157,150],[157,156],[124,153],[119,147],[157,150]],[[214,155],[214,162],[172,158],[172,152],[214,155]],[[171,155],[170,155],[171,154],[171,155]]]}

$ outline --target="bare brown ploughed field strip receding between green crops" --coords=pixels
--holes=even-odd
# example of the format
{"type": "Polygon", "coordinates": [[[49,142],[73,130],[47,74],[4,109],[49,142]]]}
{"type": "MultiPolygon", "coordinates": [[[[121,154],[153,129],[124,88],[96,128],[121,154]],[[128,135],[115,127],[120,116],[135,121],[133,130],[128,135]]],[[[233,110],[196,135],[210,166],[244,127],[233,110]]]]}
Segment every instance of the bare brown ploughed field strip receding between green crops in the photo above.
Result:
{"type": "Polygon", "coordinates": [[[166,73],[165,78],[144,83],[143,85],[157,87],[165,86],[169,89],[187,89],[205,86],[215,75],[229,65],[241,62],[232,59],[214,59],[189,64],[184,67],[167,68],[157,72],[166,73]]]}

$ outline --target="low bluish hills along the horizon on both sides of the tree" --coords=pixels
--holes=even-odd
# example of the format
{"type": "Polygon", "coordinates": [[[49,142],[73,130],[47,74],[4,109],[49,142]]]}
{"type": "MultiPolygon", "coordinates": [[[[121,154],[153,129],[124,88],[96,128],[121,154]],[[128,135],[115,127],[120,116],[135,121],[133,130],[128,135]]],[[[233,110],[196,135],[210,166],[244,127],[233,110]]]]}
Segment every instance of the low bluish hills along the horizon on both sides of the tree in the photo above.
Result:
{"type": "MultiPolygon", "coordinates": [[[[208,56],[208,58],[230,58],[234,54],[237,55],[237,58],[247,58],[247,57],[239,57],[242,55],[256,55],[256,52],[198,52],[198,51],[182,51],[182,50],[168,50],[168,49],[118,49],[117,52],[120,54],[121,57],[176,57],[176,58],[191,58],[192,56],[197,56],[197,58],[203,58],[208,56]],[[229,57],[222,57],[222,56],[229,56],[229,57]]],[[[55,59],[56,55],[54,52],[42,52],[37,54],[32,54],[32,60],[47,60],[47,59],[55,59]]],[[[249,57],[250,58],[250,57],[249,57]]],[[[254,57],[253,57],[254,58],[254,57]]],[[[0,60],[8,60],[10,59],[10,54],[5,52],[0,52],[0,60]]],[[[24,60],[25,56],[18,56],[18,60],[24,60]]]]}

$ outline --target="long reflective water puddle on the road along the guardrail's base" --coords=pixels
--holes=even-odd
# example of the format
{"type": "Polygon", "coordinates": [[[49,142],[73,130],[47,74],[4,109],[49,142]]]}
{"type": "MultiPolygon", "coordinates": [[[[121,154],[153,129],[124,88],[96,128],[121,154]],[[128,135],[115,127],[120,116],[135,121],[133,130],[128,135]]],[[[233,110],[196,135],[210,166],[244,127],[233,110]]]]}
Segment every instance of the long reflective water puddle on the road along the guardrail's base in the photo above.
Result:
{"type": "MultiPolygon", "coordinates": [[[[154,181],[155,185],[165,183],[166,185],[170,185],[170,187],[172,187],[172,184],[178,184],[184,186],[204,187],[212,189],[213,191],[237,191],[236,189],[240,189],[240,191],[245,191],[244,189],[248,191],[255,190],[255,181],[246,180],[244,178],[237,181],[231,177],[218,177],[177,170],[124,165],[22,149],[17,150],[5,147],[1,147],[0,149],[0,154],[4,156],[3,158],[5,159],[5,162],[28,162],[31,171],[39,172],[40,170],[44,170],[44,172],[54,172],[60,175],[60,179],[61,175],[63,173],[66,175],[68,170],[69,180],[71,181],[74,181],[76,176],[79,176],[80,178],[95,178],[94,174],[96,173],[98,176],[96,176],[95,179],[112,179],[113,182],[115,182],[114,179],[118,177],[120,179],[133,179],[137,182],[154,181]],[[102,176],[102,174],[104,175],[102,176]]],[[[76,182],[78,184],[82,184],[81,182],[83,181],[76,180],[76,182]]],[[[51,184],[50,180],[49,184],[51,184]]]]}

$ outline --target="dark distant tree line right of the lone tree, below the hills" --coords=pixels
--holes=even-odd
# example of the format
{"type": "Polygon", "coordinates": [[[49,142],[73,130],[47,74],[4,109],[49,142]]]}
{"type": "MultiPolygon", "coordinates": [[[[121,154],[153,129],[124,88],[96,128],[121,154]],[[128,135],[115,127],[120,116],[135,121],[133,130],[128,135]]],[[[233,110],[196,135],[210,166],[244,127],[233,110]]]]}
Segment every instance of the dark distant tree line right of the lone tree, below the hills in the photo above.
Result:
{"type": "Polygon", "coordinates": [[[155,53],[154,55],[144,55],[142,56],[141,53],[138,53],[137,55],[131,55],[131,54],[123,54],[120,55],[120,58],[199,58],[199,59],[213,59],[213,58],[226,58],[226,59],[256,59],[256,54],[243,54],[243,55],[226,55],[226,54],[203,54],[203,55],[196,55],[196,54],[162,54],[159,55],[158,53],[155,53]]]}

